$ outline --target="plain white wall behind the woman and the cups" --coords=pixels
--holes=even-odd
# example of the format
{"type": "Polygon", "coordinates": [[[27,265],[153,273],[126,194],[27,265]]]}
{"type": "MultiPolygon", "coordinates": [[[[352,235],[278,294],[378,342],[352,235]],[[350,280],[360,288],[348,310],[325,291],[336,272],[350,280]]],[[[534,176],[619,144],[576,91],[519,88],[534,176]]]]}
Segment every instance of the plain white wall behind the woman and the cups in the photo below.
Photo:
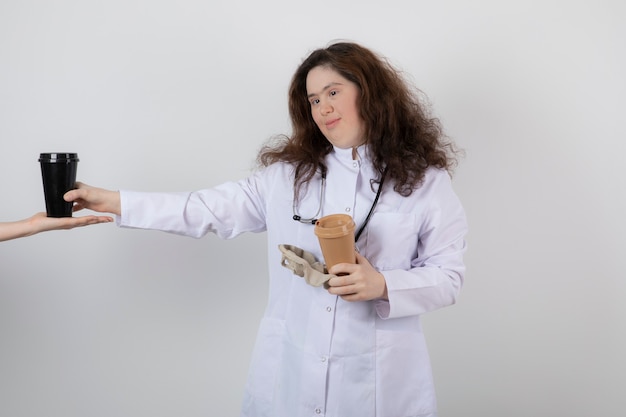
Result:
{"type": "MultiPolygon", "coordinates": [[[[621,0],[3,0],[0,221],[44,209],[40,152],[112,189],[244,177],[289,130],[301,60],[355,40],[467,151],[466,287],[425,317],[441,416],[621,416],[625,19],[621,0]]],[[[265,247],[114,225],[0,244],[0,415],[236,416],[265,247]]]]}

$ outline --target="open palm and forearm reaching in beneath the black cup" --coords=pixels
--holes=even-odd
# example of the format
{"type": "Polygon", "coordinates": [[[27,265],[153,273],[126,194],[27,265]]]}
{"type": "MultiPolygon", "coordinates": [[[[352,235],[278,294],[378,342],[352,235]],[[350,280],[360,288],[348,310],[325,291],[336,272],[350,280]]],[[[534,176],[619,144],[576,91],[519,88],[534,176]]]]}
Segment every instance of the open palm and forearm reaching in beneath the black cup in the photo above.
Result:
{"type": "Polygon", "coordinates": [[[0,242],[31,236],[50,230],[73,229],[74,227],[87,226],[97,223],[112,222],[108,216],[83,216],[83,217],[47,217],[46,213],[37,213],[27,219],[13,222],[0,223],[0,242]]]}

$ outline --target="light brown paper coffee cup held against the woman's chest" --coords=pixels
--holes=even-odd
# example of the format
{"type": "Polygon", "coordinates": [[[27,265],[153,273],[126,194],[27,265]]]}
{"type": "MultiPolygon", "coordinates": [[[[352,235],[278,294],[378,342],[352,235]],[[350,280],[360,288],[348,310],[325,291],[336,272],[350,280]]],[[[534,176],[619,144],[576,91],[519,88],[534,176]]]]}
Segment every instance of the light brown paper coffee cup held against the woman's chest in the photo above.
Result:
{"type": "Polygon", "coordinates": [[[356,263],[354,227],[352,217],[347,214],[331,214],[315,222],[315,235],[320,242],[326,270],[342,262],[356,263]]]}

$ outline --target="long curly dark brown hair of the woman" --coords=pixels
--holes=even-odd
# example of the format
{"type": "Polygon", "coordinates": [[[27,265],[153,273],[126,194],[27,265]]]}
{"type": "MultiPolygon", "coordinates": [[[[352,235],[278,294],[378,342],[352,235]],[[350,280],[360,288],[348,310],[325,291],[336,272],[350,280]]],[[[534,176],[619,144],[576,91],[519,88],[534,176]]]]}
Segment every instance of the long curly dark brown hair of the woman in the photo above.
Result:
{"type": "Polygon", "coordinates": [[[357,106],[365,125],[365,143],[379,173],[375,182],[386,170],[394,190],[408,196],[421,185],[428,167],[451,172],[456,166],[459,151],[444,135],[439,119],[430,116],[425,95],[386,59],[358,44],[340,42],[313,51],[300,64],[289,87],[293,132],[276,136],[277,141],[264,145],[257,158],[262,166],[292,164],[296,196],[318,169],[326,169],[324,157],[332,150],[313,121],[307,99],[307,75],[319,66],[337,71],[359,88],[357,106]]]}

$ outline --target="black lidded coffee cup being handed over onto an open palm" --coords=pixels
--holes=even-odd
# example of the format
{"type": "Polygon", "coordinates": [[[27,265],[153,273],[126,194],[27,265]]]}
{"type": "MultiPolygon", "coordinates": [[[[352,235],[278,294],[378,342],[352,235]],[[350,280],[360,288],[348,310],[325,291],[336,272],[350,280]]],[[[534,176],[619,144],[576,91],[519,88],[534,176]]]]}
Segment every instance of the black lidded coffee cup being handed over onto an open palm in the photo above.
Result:
{"type": "Polygon", "coordinates": [[[39,162],[48,217],[72,217],[74,203],[65,201],[63,195],[76,188],[78,154],[42,153],[39,162]]]}

